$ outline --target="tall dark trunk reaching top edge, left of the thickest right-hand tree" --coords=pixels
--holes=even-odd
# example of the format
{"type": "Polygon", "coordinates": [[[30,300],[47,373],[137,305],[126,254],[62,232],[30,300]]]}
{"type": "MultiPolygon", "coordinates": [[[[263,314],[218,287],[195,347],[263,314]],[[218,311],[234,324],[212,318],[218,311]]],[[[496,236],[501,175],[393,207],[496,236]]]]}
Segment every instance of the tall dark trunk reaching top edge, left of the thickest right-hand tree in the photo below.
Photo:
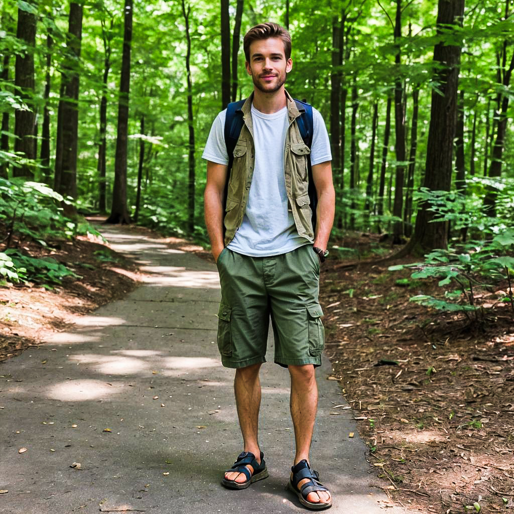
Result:
{"type": "MultiPolygon", "coordinates": [[[[399,45],[401,38],[401,0],[396,0],[396,16],[394,24],[394,41],[399,45]]],[[[393,224],[393,244],[403,243],[403,181],[405,180],[405,105],[403,103],[403,84],[400,74],[401,54],[398,46],[395,58],[396,78],[394,81],[394,120],[395,120],[395,152],[396,152],[396,174],[394,186],[393,216],[400,218],[393,224]]]]}

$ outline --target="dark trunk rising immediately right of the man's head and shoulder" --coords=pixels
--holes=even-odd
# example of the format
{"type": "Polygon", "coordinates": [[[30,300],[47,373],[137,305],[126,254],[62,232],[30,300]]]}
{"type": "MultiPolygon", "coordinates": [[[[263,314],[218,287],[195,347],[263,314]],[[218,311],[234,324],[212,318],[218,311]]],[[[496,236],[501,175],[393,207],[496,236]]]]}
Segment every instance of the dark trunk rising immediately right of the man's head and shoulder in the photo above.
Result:
{"type": "Polygon", "coordinates": [[[336,177],[336,183],[340,183],[341,175],[341,74],[338,69],[341,66],[341,25],[338,16],[332,19],[332,74],[330,90],[330,135],[332,143],[332,170],[336,177]]]}

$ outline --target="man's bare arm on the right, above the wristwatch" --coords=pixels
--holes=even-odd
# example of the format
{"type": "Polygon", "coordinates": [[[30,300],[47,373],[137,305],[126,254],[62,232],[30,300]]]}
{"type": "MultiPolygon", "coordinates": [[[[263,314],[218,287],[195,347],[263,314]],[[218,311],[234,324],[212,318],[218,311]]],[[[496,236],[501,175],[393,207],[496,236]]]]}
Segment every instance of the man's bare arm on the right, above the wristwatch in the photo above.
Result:
{"type": "Polygon", "coordinates": [[[315,164],[313,166],[313,180],[318,196],[314,246],[326,250],[336,208],[336,192],[332,181],[332,161],[315,164]]]}

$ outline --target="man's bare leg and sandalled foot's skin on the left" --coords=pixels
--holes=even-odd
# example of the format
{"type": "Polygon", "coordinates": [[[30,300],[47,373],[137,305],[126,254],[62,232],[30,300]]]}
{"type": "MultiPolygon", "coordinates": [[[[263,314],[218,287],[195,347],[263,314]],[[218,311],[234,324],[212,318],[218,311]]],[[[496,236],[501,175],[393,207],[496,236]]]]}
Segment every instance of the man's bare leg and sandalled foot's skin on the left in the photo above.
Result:
{"type": "MultiPolygon", "coordinates": [[[[261,408],[261,380],[259,371],[261,363],[238,368],[234,377],[235,403],[237,417],[243,434],[243,450],[255,455],[255,460],[261,462],[259,448],[259,410],[261,408]]],[[[253,472],[251,466],[247,466],[253,472]]],[[[246,476],[237,471],[225,473],[225,478],[237,483],[246,482],[246,476]]]]}

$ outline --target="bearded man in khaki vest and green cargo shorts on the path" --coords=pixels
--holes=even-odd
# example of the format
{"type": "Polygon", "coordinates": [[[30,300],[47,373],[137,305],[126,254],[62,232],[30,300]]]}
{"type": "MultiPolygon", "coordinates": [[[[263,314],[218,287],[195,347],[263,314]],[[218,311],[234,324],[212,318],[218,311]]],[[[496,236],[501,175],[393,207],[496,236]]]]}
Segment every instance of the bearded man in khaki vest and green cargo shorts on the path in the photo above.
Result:
{"type": "Polygon", "coordinates": [[[322,509],[332,505],[331,494],[310,468],[309,448],[318,403],[315,368],[324,345],[319,271],[334,219],[332,156],[325,124],[315,109],[310,150],[300,134],[301,113],[284,88],[292,68],[289,33],[274,23],[257,25],[245,35],[243,47],[253,93],[241,109],[244,125],[230,176],[226,111],[214,120],[203,154],[208,161],[205,219],[222,286],[218,348],[223,365],[235,368],[244,444],[222,483],[244,489],[268,476],[258,442],[259,371],[266,360],[271,317],[274,361],[287,367],[291,378],[296,454],[288,486],[303,505],[322,509]],[[315,230],[308,196],[309,153],[318,199],[315,230]]]}

